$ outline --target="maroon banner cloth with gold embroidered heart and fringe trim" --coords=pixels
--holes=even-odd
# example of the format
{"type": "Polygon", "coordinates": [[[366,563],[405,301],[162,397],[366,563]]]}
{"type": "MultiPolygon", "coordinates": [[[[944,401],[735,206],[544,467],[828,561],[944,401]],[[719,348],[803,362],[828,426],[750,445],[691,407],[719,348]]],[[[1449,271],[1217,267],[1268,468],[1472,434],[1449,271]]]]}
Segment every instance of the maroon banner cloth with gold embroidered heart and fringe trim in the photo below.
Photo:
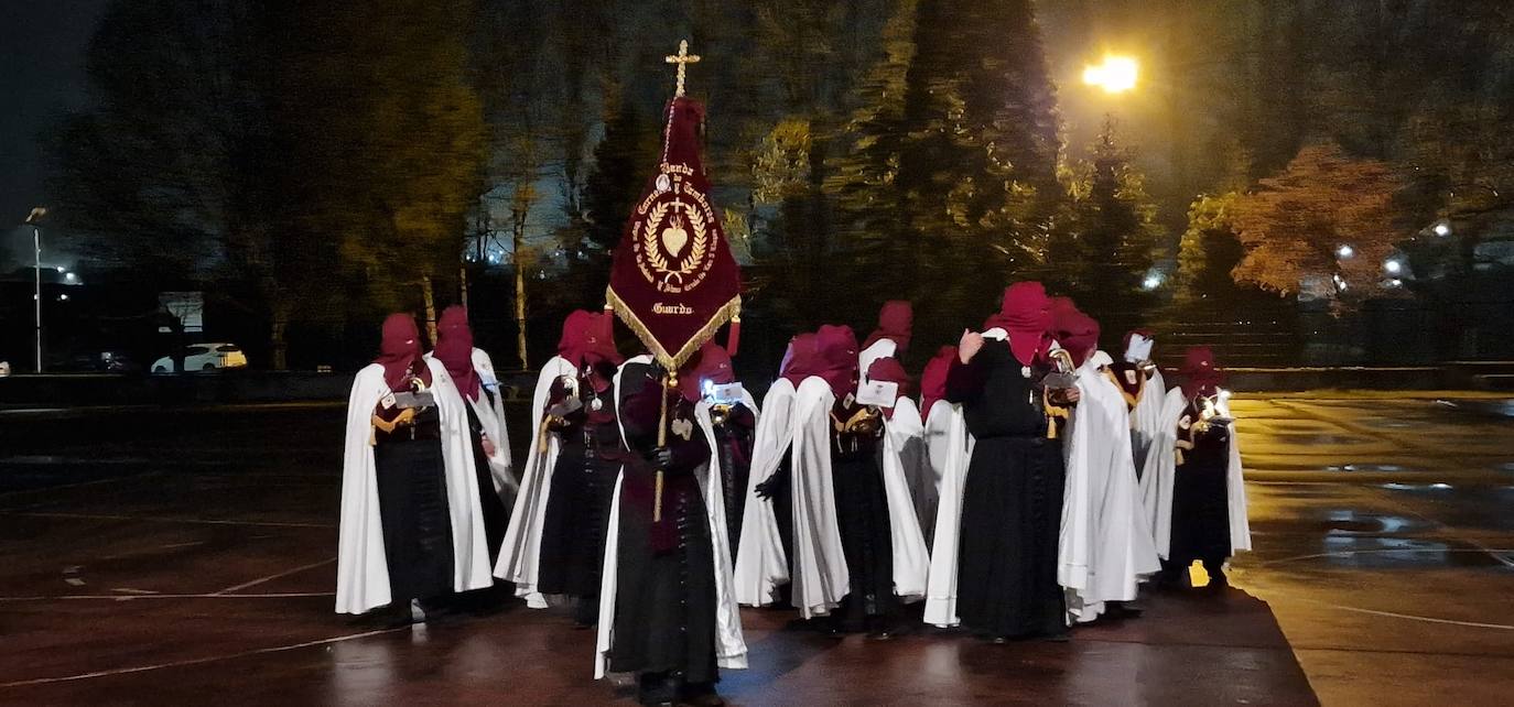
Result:
{"type": "Polygon", "coordinates": [[[663,159],[615,250],[607,306],[653,356],[677,371],[740,316],[742,280],[699,164],[704,107],[668,104],[663,159]]]}

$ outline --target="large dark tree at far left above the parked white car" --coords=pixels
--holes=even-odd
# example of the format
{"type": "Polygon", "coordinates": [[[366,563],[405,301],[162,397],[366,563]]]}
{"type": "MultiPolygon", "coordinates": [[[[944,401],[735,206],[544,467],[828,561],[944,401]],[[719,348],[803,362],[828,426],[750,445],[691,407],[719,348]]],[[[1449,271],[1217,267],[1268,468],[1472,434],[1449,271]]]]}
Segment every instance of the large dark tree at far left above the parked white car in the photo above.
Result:
{"type": "Polygon", "coordinates": [[[292,226],[277,94],[289,27],[262,3],[118,2],[91,44],[91,107],[65,121],[68,227],[156,282],[215,276],[210,297],[269,315],[274,368],[294,313],[327,312],[333,250],[292,226]],[[250,300],[232,297],[248,291],[250,300]]]}

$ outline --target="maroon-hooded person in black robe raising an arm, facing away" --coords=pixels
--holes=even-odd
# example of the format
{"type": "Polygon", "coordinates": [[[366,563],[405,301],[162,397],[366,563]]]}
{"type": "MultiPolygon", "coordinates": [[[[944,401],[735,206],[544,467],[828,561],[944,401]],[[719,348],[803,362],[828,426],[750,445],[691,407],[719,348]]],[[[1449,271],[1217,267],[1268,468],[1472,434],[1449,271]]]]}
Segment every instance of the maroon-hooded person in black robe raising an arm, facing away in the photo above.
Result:
{"type": "Polygon", "coordinates": [[[1063,389],[1045,391],[1051,348],[1051,301],[1040,283],[1005,289],[989,332],[964,332],[946,377],[946,400],[960,403],[974,447],[961,492],[961,522],[937,521],[937,554],[957,575],[933,586],[928,621],[960,621],[978,636],[1063,636],[1066,615],[1057,583],[1057,534],[1063,500],[1061,439],[1048,434],[1046,403],[1067,403],[1063,389]],[[955,615],[945,615],[955,603],[955,615]]]}

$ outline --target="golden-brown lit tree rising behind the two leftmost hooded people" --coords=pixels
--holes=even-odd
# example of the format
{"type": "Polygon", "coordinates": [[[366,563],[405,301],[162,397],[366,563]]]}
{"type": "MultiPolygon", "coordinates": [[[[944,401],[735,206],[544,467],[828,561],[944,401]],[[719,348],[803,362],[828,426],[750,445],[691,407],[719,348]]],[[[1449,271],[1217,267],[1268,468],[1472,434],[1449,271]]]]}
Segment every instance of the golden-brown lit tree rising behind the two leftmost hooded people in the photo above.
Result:
{"type": "Polygon", "coordinates": [[[469,0],[316,0],[288,9],[289,115],[306,233],[341,245],[369,301],[424,304],[456,282],[483,185],[469,0]]]}

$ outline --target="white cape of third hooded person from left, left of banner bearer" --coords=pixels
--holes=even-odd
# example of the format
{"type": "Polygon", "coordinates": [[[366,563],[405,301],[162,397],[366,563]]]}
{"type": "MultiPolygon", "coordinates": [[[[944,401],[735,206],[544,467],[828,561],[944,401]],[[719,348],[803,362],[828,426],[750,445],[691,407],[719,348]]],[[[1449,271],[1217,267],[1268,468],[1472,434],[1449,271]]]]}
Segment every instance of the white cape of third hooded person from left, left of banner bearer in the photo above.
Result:
{"type": "Polygon", "coordinates": [[[531,395],[530,451],[525,454],[521,491],[510,510],[510,524],[504,531],[500,559],[494,566],[494,575],[513,581],[515,595],[524,596],[525,604],[531,609],[547,609],[547,598],[536,590],[536,584],[540,577],[542,522],[547,519],[547,498],[551,497],[553,469],[557,466],[557,454],[562,451],[562,441],[557,433],[542,428],[542,418],[547,413],[553,382],[562,375],[577,374],[578,369],[568,359],[553,356],[536,377],[536,394],[531,395]]]}

